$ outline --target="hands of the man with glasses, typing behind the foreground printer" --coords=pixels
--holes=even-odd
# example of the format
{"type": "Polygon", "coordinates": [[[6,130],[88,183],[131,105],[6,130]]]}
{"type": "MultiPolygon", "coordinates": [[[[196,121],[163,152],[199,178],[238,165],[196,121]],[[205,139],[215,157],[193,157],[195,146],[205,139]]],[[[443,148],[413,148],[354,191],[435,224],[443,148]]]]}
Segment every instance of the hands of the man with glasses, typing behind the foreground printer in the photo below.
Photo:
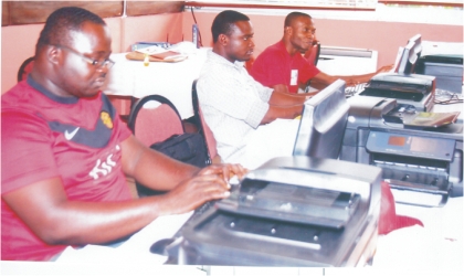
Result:
{"type": "Polygon", "coordinates": [[[246,172],[240,164],[211,164],[161,195],[164,212],[160,215],[189,212],[207,201],[228,198],[231,177],[242,179],[246,172]]]}

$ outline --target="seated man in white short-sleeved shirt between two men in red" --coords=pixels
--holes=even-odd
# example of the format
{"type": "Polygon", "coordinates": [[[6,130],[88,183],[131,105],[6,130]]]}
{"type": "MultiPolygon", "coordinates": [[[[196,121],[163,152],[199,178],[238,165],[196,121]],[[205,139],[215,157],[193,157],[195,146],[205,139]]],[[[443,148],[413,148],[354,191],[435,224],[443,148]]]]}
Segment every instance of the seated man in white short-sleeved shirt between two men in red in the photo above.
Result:
{"type": "Polygon", "coordinates": [[[293,118],[300,115],[306,97],[275,92],[249,75],[243,66],[254,49],[249,17],[223,11],[215,17],[211,31],[213,49],[197,91],[219,155],[225,162],[239,162],[249,169],[272,157],[292,155],[298,128],[298,120],[293,118]],[[277,118],[292,120],[274,121],[277,118]]]}

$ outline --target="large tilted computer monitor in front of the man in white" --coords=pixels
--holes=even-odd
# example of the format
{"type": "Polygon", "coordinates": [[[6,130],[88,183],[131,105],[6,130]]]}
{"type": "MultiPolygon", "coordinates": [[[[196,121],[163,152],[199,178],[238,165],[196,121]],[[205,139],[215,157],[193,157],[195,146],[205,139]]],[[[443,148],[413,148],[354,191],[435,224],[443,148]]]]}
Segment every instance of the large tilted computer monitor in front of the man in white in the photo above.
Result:
{"type": "Polygon", "coordinates": [[[342,79],[306,100],[293,155],[337,159],[348,112],[342,79]]]}

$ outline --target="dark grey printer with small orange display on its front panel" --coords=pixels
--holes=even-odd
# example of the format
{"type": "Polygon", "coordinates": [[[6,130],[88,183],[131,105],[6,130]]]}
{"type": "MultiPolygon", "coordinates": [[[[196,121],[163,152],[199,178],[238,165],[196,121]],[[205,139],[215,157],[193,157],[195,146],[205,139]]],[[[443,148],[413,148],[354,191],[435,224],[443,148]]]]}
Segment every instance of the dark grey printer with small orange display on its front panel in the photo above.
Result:
{"type": "Polygon", "coordinates": [[[412,107],[393,98],[351,97],[340,160],[376,166],[397,202],[442,206],[463,194],[463,124],[409,127],[412,107]],[[394,116],[397,115],[397,116],[394,116]]]}

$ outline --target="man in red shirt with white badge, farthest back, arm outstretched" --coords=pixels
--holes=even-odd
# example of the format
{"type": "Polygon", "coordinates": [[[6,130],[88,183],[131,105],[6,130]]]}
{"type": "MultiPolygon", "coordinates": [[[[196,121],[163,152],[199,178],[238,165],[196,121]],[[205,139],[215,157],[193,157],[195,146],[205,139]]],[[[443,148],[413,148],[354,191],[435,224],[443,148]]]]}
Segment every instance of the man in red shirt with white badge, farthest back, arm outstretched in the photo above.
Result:
{"type": "Polygon", "coordinates": [[[254,61],[251,75],[261,84],[287,93],[304,89],[309,79],[315,88],[324,88],[338,78],[347,85],[367,83],[392,65],[383,66],[375,73],[355,76],[331,76],[320,72],[302,53],[310,51],[316,40],[316,28],[312,17],[303,12],[292,12],[285,18],[284,35],[274,45],[265,49],[254,61]]]}

